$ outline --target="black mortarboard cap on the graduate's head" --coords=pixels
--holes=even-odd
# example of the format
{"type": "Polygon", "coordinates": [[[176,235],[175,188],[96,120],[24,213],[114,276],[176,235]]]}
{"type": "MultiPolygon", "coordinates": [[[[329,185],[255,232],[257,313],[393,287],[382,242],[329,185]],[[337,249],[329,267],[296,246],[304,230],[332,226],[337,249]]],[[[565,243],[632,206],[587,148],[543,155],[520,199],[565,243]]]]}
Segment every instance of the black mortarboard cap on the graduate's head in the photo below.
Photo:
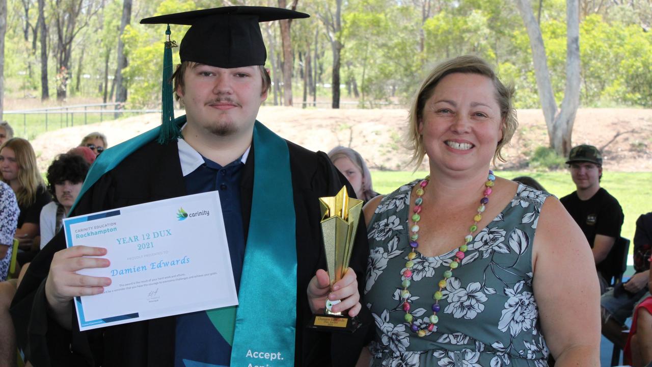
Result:
{"type": "Polygon", "coordinates": [[[284,8],[222,7],[155,16],[140,23],[190,25],[179,47],[181,61],[232,68],[265,65],[267,52],[258,22],[308,17],[284,8]]]}

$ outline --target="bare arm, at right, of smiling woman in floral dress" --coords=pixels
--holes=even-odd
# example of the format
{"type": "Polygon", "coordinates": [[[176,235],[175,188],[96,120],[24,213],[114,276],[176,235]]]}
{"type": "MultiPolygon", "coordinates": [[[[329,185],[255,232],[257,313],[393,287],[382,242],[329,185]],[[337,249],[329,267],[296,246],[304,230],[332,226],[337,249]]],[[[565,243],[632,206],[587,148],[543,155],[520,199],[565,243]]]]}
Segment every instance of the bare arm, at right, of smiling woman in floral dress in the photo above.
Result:
{"type": "Polygon", "coordinates": [[[591,247],[554,197],[541,208],[532,261],[539,319],[556,366],[599,366],[600,289],[591,247]]]}

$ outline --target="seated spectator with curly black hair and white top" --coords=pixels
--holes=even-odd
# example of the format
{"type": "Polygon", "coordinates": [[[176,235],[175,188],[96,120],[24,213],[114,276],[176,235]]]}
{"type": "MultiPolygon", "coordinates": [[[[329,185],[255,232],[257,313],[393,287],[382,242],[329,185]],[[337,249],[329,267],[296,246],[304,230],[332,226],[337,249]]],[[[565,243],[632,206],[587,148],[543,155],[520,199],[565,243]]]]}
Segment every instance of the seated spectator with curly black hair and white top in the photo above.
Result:
{"type": "Polygon", "coordinates": [[[87,161],[74,154],[58,155],[48,168],[48,191],[53,200],[40,213],[40,248],[46,246],[61,228],[62,219],[68,216],[82,189],[88,168],[87,161]]]}

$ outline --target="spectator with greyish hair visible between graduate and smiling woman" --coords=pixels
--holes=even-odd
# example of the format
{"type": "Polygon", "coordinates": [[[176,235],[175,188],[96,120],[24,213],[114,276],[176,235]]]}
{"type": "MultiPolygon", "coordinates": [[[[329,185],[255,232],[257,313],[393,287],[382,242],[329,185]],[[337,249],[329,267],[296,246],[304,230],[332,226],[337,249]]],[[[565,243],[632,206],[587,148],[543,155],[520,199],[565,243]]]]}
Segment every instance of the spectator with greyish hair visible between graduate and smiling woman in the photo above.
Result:
{"type": "Polygon", "coordinates": [[[351,148],[336,146],[328,153],[328,156],[333,165],[344,174],[344,177],[353,186],[355,197],[364,200],[366,204],[378,196],[378,193],[372,189],[371,173],[360,153],[351,148]]]}

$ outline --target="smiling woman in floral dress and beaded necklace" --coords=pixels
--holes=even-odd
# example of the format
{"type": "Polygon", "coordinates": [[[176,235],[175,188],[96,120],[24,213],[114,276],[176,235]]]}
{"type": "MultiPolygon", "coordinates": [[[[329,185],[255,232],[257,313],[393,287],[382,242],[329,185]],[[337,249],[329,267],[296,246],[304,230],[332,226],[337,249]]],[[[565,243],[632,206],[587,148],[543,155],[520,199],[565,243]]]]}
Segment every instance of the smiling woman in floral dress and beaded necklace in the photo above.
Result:
{"type": "Polygon", "coordinates": [[[419,89],[408,140],[430,175],[364,207],[373,366],[599,363],[582,232],[559,200],[490,170],[518,125],[513,93],[473,56],[441,63],[419,89]]]}

